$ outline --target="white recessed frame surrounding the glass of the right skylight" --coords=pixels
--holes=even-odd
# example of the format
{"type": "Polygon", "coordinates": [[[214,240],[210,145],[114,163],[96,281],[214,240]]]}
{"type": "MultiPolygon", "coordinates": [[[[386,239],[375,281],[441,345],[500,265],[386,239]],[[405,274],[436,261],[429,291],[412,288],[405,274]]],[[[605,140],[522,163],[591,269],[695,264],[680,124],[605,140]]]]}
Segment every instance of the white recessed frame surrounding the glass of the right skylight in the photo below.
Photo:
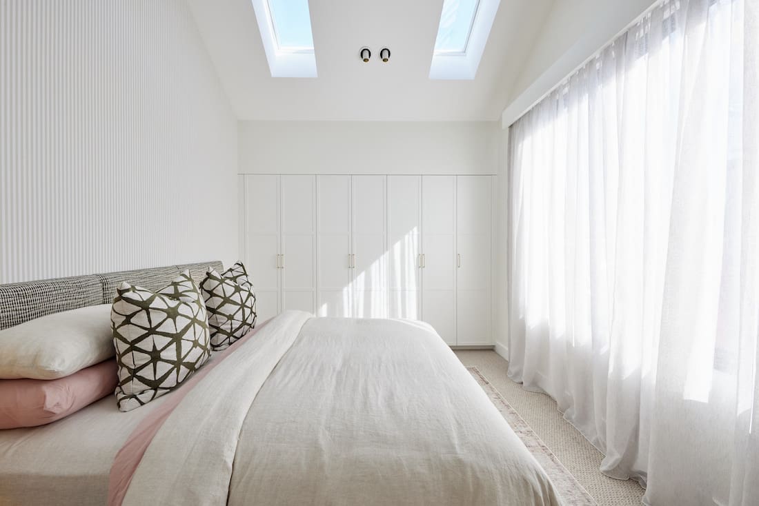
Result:
{"type": "MultiPolygon", "coordinates": [[[[436,51],[433,48],[430,79],[473,80],[477,76],[493,21],[496,19],[501,0],[479,0],[472,18],[465,52],[436,51]]],[[[442,11],[440,13],[442,17],[442,11]]],[[[439,32],[439,22],[438,22],[439,32]]],[[[437,43],[437,39],[435,39],[437,43]]]]}

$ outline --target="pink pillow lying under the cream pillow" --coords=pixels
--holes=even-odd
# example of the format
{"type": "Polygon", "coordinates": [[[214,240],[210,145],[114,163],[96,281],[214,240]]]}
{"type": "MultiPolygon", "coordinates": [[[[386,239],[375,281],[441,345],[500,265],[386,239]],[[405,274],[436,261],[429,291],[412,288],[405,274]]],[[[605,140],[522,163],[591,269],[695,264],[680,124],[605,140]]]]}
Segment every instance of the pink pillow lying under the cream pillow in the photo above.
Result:
{"type": "Polygon", "coordinates": [[[58,379],[0,379],[0,429],[60,420],[112,394],[117,382],[115,360],[58,379]]]}

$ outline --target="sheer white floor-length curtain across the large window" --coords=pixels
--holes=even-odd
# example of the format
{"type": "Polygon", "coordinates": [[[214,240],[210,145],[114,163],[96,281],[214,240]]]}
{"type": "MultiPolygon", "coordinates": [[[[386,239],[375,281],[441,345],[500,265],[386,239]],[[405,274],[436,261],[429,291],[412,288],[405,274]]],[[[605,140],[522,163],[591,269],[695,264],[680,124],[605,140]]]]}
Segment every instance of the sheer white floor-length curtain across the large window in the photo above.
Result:
{"type": "Polygon", "coordinates": [[[757,3],[661,2],[512,126],[509,376],[647,504],[759,504],[757,3]]]}

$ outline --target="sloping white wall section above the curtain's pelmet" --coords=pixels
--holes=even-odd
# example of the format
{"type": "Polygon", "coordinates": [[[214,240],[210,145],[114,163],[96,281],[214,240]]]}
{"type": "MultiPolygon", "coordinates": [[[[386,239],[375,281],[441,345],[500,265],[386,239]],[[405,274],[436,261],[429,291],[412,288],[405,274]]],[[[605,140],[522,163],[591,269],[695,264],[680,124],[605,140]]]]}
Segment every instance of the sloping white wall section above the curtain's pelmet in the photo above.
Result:
{"type": "Polygon", "coordinates": [[[656,0],[556,0],[502,115],[516,121],[656,0]]]}

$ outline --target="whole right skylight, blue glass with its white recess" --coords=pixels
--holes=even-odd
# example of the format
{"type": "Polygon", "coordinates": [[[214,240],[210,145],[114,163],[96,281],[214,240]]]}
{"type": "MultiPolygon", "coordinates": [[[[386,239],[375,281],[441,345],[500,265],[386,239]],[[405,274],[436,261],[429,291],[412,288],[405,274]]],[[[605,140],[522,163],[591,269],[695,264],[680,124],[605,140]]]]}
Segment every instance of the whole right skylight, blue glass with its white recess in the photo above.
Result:
{"type": "Polygon", "coordinates": [[[474,79],[501,0],[444,0],[430,79],[474,79]]]}

